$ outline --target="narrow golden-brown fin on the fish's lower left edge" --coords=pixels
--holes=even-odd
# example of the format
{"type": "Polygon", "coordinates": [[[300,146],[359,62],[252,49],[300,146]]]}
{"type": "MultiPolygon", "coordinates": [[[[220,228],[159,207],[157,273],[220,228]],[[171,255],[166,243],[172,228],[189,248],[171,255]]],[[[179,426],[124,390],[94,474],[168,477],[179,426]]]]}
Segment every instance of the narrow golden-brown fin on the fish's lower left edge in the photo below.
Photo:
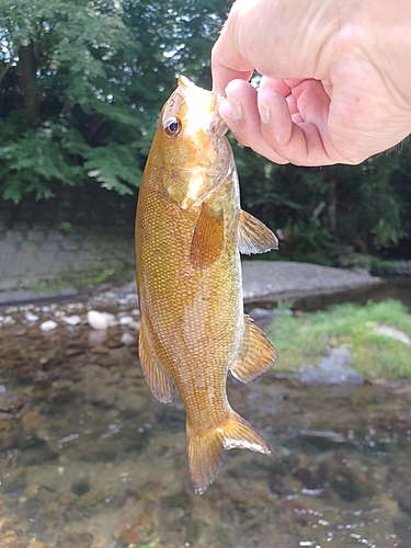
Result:
{"type": "Polygon", "coordinates": [[[141,322],[138,340],[138,355],[142,373],[151,392],[161,403],[169,403],[174,399],[174,383],[152,349],[151,341],[146,336],[147,327],[141,322]]]}

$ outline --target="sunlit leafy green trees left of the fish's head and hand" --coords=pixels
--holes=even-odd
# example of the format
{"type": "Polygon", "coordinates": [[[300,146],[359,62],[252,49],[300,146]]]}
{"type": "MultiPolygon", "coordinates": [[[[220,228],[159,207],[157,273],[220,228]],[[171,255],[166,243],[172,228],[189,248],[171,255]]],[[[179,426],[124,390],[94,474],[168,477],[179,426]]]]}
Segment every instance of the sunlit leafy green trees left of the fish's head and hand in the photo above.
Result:
{"type": "Polygon", "coordinates": [[[209,49],[229,4],[2,2],[0,195],[38,199],[52,183],[90,178],[134,193],[178,73],[209,85],[209,49]]]}

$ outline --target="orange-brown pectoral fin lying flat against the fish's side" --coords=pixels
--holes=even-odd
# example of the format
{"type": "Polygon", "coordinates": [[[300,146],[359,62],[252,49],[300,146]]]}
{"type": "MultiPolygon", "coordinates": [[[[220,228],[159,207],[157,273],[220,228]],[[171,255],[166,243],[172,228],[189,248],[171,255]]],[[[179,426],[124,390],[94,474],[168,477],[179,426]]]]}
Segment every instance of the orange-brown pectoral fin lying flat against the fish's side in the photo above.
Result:
{"type": "Polygon", "coordinates": [[[219,258],[224,246],[224,214],[215,213],[205,202],[194,228],[191,243],[191,262],[204,269],[219,258]]]}

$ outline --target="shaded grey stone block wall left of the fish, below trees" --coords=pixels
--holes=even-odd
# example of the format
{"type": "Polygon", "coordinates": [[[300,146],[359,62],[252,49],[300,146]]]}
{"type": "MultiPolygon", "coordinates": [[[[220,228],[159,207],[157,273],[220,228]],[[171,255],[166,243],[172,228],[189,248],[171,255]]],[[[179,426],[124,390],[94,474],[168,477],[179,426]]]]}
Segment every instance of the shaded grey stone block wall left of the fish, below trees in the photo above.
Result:
{"type": "Polygon", "coordinates": [[[0,290],[133,267],[136,196],[94,184],[55,193],[38,202],[0,203],[0,290]]]}

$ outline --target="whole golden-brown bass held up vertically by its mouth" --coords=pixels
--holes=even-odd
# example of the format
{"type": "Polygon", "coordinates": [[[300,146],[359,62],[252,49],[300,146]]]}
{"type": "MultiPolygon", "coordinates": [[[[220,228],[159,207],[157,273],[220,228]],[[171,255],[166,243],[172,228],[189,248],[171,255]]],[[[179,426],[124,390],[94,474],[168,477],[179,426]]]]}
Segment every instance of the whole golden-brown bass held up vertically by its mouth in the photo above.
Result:
{"type": "Polygon", "coordinates": [[[136,214],[139,362],[153,396],[186,411],[192,484],[204,493],[225,452],[270,454],[227,399],[276,358],[244,315],[240,253],[277,249],[275,235],[241,209],[221,96],[181,76],[165,102],[144,171],[136,214]]]}

